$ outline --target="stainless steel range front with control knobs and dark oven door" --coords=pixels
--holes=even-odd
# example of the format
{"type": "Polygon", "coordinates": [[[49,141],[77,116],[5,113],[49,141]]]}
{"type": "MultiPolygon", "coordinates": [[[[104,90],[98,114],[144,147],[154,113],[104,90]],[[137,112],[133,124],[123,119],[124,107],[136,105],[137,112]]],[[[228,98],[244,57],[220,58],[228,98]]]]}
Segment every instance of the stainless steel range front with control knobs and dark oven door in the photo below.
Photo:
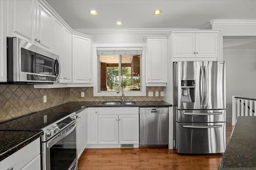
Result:
{"type": "Polygon", "coordinates": [[[76,113],[42,129],[42,169],[77,169],[76,113]]]}

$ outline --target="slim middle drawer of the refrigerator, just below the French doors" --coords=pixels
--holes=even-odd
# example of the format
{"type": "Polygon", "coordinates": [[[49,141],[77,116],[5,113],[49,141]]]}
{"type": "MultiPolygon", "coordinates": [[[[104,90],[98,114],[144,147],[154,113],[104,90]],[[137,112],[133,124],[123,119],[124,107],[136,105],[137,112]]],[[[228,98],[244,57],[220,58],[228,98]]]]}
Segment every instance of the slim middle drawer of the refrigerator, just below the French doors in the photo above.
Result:
{"type": "Polygon", "coordinates": [[[177,110],[176,121],[185,123],[226,122],[226,110],[177,110]]]}

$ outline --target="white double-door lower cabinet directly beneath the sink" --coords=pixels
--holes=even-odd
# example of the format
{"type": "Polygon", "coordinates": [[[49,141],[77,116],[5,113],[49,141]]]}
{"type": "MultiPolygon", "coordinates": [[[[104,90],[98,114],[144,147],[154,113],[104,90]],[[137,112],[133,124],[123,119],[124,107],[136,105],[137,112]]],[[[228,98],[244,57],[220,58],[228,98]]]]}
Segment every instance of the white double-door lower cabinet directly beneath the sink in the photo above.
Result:
{"type": "Polygon", "coordinates": [[[99,108],[98,144],[138,143],[139,113],[136,108],[99,108]]]}

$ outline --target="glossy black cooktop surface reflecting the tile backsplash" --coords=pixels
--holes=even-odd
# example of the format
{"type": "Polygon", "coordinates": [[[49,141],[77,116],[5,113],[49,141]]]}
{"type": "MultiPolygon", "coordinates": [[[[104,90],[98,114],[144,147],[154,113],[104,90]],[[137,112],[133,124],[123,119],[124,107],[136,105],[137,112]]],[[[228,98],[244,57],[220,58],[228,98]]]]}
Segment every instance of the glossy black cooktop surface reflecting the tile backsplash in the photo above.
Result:
{"type": "Polygon", "coordinates": [[[40,130],[77,110],[71,103],[58,105],[0,123],[0,130],[40,130]]]}

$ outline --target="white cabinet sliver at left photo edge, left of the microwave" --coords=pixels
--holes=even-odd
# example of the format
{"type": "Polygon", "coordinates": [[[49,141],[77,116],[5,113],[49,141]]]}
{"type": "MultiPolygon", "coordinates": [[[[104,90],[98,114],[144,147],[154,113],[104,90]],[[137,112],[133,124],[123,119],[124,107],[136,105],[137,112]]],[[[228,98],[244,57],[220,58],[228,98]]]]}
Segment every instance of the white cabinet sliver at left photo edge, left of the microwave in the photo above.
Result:
{"type": "Polygon", "coordinates": [[[0,82],[7,81],[6,11],[7,1],[0,1],[0,82]]]}

